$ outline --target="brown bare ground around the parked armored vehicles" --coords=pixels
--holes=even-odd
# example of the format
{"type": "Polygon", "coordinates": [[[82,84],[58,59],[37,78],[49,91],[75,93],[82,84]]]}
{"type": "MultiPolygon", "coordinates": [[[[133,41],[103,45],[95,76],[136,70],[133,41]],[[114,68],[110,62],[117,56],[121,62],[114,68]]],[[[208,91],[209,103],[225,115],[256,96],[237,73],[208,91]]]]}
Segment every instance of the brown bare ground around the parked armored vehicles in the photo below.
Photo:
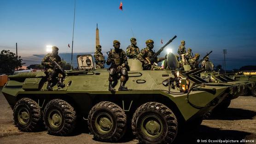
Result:
{"type": "MultiPolygon", "coordinates": [[[[46,131],[19,132],[13,125],[12,109],[1,92],[0,115],[0,144],[109,144],[94,140],[87,126],[81,126],[81,130],[69,137],[52,136],[46,131]]],[[[204,120],[201,126],[186,131],[177,139],[176,144],[206,144],[204,140],[209,143],[209,140],[218,139],[239,140],[239,144],[256,144],[256,97],[241,96],[232,100],[227,110],[214,115],[210,120],[204,120]],[[243,139],[254,140],[254,143],[240,142],[243,139]]],[[[119,143],[137,144],[138,141],[132,134],[128,134],[119,143]]]]}

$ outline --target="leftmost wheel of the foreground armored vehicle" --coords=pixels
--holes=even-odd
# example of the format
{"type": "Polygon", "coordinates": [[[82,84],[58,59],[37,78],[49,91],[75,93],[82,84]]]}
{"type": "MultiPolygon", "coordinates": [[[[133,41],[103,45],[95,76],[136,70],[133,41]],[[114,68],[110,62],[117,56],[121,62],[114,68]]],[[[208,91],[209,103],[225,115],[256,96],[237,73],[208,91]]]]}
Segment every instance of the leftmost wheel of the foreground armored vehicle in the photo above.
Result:
{"type": "Polygon", "coordinates": [[[14,106],[13,119],[20,131],[33,132],[40,126],[40,108],[34,100],[21,98],[14,106]]]}

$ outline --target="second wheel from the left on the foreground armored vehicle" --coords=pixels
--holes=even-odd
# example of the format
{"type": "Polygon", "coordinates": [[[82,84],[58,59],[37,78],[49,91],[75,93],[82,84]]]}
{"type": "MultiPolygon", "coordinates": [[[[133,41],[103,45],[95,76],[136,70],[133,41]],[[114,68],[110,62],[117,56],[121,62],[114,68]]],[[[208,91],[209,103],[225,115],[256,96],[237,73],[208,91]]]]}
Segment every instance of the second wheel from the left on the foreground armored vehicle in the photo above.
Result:
{"type": "Polygon", "coordinates": [[[76,111],[62,99],[53,99],[44,109],[44,124],[48,133],[65,136],[76,126],[76,111]]]}

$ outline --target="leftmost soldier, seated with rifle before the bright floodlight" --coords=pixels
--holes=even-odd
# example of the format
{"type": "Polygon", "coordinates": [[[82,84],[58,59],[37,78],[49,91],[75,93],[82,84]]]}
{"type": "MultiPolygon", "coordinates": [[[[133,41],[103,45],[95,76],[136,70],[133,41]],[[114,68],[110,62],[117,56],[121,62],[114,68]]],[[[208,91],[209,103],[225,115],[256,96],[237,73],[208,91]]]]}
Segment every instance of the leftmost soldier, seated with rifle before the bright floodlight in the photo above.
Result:
{"type": "Polygon", "coordinates": [[[54,81],[58,81],[57,86],[59,87],[65,87],[65,84],[63,83],[63,79],[65,74],[56,67],[56,64],[54,64],[55,61],[58,63],[58,65],[61,64],[61,59],[58,56],[58,47],[57,46],[52,46],[52,53],[48,53],[42,60],[42,65],[45,66],[45,72],[48,77],[48,85],[47,85],[47,90],[52,91],[52,85],[54,81]],[[58,76],[58,80],[56,77],[58,76]]]}

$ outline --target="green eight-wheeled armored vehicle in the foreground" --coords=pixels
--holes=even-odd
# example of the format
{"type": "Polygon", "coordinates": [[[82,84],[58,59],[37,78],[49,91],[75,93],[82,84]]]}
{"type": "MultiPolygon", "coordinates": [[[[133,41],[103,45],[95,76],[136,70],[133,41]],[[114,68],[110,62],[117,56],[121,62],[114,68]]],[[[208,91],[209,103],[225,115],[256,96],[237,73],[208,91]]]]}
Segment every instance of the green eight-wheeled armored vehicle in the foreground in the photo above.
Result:
{"type": "Polygon", "coordinates": [[[169,144],[178,130],[200,124],[206,112],[239,89],[197,84],[175,71],[177,59],[170,53],[164,66],[169,70],[142,70],[139,60],[128,59],[129,90],[110,92],[108,70],[95,69],[84,59],[93,61],[91,55],[77,56],[80,70],[65,72],[65,86],[53,86],[53,91],[47,91],[44,72],[9,76],[2,92],[19,130],[32,132],[44,123],[48,133],[65,136],[84,119],[94,138],[101,141],[115,142],[132,129],[141,143],[169,144]]]}

